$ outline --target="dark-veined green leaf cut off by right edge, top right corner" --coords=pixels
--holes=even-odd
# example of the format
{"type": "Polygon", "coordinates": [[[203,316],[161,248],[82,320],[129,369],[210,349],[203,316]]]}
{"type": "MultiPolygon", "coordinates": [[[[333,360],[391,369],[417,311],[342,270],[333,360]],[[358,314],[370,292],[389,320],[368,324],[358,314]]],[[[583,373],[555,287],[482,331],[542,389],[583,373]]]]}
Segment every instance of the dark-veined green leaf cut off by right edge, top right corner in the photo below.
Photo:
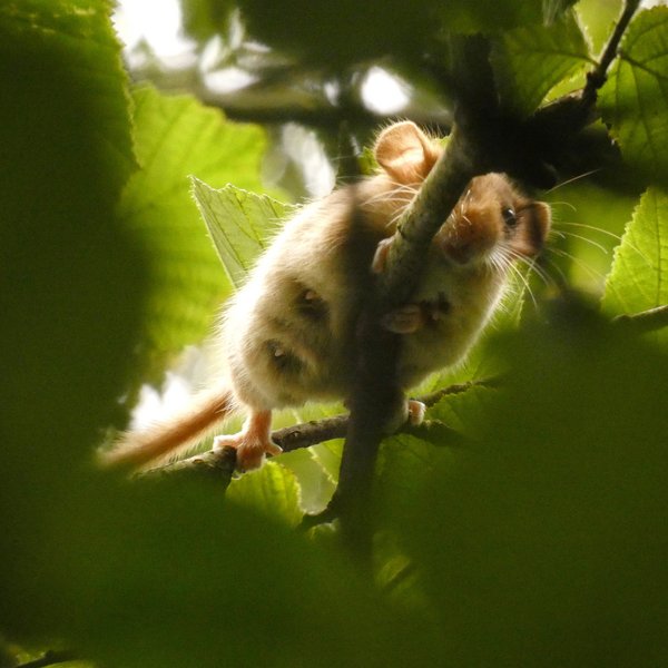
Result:
{"type": "Polygon", "coordinates": [[[626,161],[654,183],[668,180],[668,7],[640,12],[600,92],[603,120],[626,161]]]}

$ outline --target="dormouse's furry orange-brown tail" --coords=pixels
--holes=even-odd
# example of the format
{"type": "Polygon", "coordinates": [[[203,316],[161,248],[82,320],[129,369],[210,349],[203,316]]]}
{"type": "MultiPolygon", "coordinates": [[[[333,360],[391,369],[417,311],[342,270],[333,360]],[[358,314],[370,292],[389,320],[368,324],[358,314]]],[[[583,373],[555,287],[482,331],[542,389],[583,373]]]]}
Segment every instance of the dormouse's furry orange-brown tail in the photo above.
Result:
{"type": "Polygon", "coordinates": [[[188,412],[144,431],[126,432],[99,455],[102,466],[139,468],[203,435],[235,409],[232,392],[205,394],[188,412]]]}

